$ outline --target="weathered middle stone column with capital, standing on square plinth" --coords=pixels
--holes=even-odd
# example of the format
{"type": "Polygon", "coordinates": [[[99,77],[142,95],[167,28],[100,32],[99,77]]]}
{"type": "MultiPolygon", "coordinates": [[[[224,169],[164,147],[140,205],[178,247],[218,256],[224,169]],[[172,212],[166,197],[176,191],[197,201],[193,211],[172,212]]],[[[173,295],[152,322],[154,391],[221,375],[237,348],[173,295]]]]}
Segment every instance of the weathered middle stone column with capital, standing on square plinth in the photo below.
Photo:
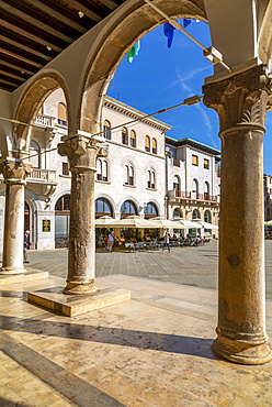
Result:
{"type": "Polygon", "coordinates": [[[68,277],[65,294],[94,294],[95,227],[94,174],[97,157],[106,156],[101,142],[83,136],[68,136],[58,144],[60,155],[67,155],[71,172],[70,230],[68,277]]]}

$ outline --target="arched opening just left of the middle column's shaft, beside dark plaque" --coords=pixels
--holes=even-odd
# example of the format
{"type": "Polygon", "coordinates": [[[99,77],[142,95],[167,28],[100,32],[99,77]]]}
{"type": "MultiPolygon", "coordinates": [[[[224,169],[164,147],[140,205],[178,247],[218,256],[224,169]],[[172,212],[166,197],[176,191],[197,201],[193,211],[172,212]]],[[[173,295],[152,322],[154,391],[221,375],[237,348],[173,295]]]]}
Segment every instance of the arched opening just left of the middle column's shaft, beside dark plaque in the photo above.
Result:
{"type": "Polygon", "coordinates": [[[70,224],[70,195],[63,195],[55,205],[55,248],[68,244],[70,224]]]}

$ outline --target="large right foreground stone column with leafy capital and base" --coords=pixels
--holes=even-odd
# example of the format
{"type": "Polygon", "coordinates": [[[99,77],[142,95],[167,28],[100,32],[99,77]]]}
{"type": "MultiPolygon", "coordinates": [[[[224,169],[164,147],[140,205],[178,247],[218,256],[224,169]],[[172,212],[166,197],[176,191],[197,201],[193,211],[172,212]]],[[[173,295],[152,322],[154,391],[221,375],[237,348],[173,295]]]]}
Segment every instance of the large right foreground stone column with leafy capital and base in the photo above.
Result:
{"type": "Polygon", "coordinates": [[[271,360],[265,332],[263,133],[271,91],[263,66],[203,87],[222,139],[218,326],[214,351],[242,364],[271,360]]]}

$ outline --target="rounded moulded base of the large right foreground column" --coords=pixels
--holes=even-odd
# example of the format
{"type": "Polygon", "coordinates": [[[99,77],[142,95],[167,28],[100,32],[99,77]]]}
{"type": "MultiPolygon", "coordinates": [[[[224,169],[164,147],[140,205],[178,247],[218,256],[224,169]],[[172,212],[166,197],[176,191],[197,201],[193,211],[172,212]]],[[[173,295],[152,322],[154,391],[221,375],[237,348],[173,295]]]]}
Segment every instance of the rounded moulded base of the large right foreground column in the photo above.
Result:
{"type": "Polygon", "coordinates": [[[272,360],[271,349],[265,341],[241,341],[218,334],[213,343],[218,356],[240,364],[264,364],[272,360]]]}

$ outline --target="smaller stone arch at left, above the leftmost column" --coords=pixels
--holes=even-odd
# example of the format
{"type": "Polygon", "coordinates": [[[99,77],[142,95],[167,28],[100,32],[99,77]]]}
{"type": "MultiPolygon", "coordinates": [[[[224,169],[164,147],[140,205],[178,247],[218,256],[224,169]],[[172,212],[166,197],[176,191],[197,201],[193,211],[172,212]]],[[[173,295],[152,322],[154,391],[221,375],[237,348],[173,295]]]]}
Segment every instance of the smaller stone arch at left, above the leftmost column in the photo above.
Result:
{"type": "MultiPolygon", "coordinates": [[[[65,94],[69,131],[71,103],[68,86],[66,85],[65,79],[57,72],[53,70],[44,70],[41,73],[41,75],[36,76],[30,81],[27,88],[22,94],[21,99],[18,102],[15,109],[15,120],[24,123],[31,123],[41,105],[54,90],[58,88],[61,88],[65,94]]],[[[27,151],[30,143],[29,128],[23,124],[15,124],[13,134],[14,147],[27,151]]]]}

